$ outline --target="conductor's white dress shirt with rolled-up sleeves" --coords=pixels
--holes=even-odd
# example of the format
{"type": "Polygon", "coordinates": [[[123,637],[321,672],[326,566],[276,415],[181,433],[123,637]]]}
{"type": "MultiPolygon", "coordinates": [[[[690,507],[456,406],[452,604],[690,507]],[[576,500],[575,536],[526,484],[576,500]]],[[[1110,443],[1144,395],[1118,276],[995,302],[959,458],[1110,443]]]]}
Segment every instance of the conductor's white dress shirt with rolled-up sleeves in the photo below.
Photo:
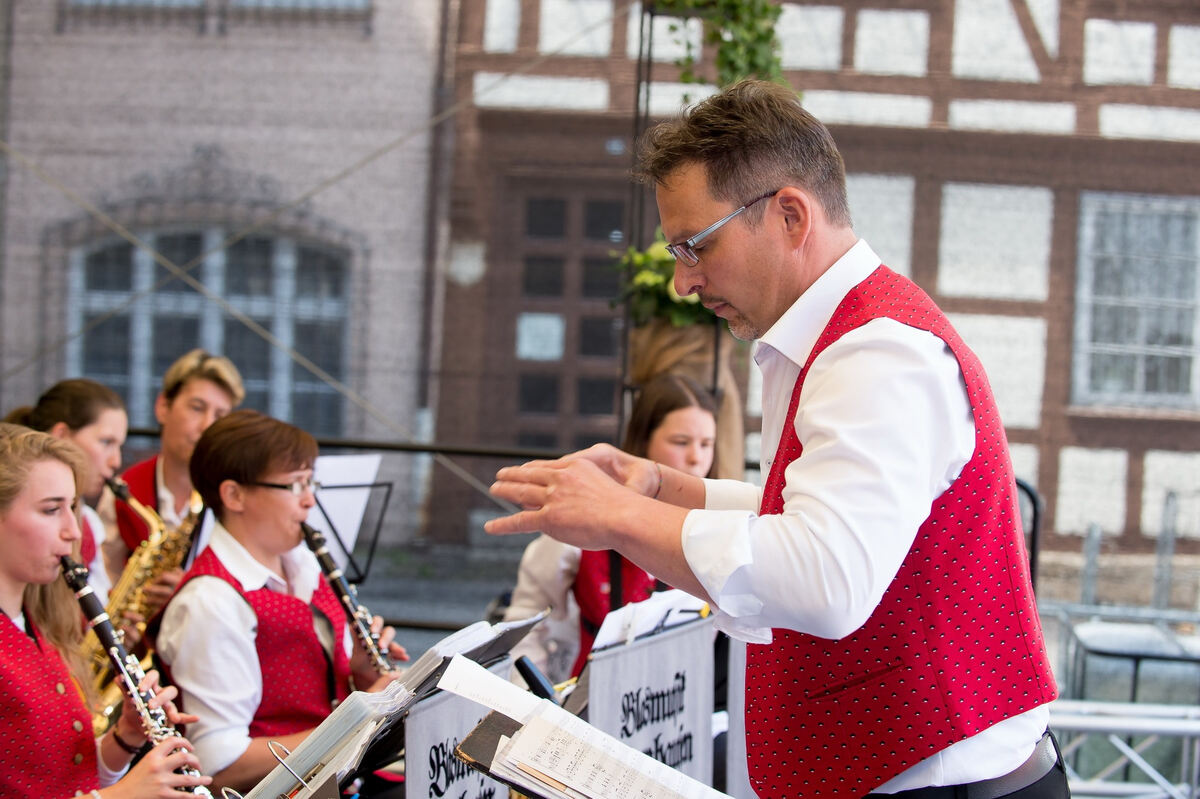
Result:
{"type": "MultiPolygon", "coordinates": [[[[804,453],[786,469],[784,511],[758,516],[762,492],[706,480],[683,549],[713,597],[716,626],[750,643],[770,629],[841,638],[860,627],[900,570],[934,500],[974,451],[974,421],[958,360],[930,332],[875,319],[816,358],[787,419],[796,379],[838,305],[880,258],[858,241],[755,347],[762,370],[762,471],[785,423],[804,453]]],[[[1000,776],[1033,751],[1045,707],[959,741],[877,791],[1000,776]]]]}

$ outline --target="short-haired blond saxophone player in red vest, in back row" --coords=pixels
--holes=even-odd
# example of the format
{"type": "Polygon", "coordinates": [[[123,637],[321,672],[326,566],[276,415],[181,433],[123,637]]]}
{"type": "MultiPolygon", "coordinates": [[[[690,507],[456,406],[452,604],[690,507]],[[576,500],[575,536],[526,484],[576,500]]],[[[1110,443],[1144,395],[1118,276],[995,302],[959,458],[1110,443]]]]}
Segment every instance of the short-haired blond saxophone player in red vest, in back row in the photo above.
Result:
{"type": "MultiPolygon", "coordinates": [[[[245,397],[241,374],[233,361],[203,349],[181,355],[163,374],[162,390],[154,405],[155,419],[162,428],[160,452],[131,465],[121,479],[133,498],[157,512],[167,527],[178,528],[188,513],[192,498],[188,462],[200,434],[245,397]]],[[[130,553],[149,537],[150,530],[132,507],[122,501],[116,501],[115,506],[120,535],[106,542],[104,557],[110,564],[124,565],[130,553]]],[[[198,552],[199,547],[192,555],[198,552]]],[[[151,613],[162,607],[181,576],[180,570],[164,572],[143,589],[151,613]]]]}

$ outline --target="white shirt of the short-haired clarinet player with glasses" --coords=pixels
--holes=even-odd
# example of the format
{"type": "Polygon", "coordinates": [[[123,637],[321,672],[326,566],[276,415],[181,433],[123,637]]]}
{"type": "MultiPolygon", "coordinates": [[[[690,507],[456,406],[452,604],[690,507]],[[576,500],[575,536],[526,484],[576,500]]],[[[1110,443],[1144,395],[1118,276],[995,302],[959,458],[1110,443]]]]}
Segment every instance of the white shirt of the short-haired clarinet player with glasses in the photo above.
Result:
{"type": "MultiPolygon", "coordinates": [[[[229,573],[247,591],[268,588],[312,600],[322,581],[320,566],[302,543],[283,555],[284,575],[262,565],[220,523],[209,542],[229,573]]],[[[313,614],[317,637],[332,651],[332,627],[313,614]]],[[[185,709],[199,716],[187,726],[205,774],[217,774],[250,746],[250,723],[263,699],[263,673],[254,638],[258,620],[236,589],[221,579],[194,577],[170,600],[162,618],[158,651],[184,692],[185,709]]],[[[352,651],[349,630],[342,638],[352,651]]]]}

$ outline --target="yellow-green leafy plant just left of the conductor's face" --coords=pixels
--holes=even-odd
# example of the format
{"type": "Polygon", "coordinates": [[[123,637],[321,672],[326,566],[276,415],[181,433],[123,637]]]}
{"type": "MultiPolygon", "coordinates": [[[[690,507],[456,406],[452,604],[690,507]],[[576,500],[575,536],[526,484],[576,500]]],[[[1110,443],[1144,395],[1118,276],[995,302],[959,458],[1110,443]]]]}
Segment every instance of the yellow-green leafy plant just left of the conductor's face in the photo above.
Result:
{"type": "Polygon", "coordinates": [[[654,319],[666,319],[676,328],[715,324],[713,312],[700,304],[695,294],[679,296],[674,290],[674,258],[667,252],[659,228],[654,244],[646,250],[630,247],[620,257],[622,293],[614,304],[629,302],[629,314],[641,328],[654,319]]]}

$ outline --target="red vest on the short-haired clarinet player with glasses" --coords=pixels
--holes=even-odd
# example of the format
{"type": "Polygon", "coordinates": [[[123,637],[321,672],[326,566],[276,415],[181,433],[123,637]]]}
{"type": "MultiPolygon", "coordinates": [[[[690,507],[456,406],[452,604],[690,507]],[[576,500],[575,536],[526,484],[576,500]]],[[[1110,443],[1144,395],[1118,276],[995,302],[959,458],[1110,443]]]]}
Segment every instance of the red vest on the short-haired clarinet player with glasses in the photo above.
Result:
{"type": "Polygon", "coordinates": [[[349,696],[350,665],[342,645],[346,612],[324,579],[312,595],[310,607],[294,596],[266,588],[242,589],[211,547],[196,558],[179,587],[199,575],[220,577],[233,585],[258,618],[254,648],[263,673],[263,699],[250,725],[251,738],[311,729],[325,720],[337,702],[349,696]],[[332,671],[329,655],[312,626],[313,608],[332,623],[332,671]]]}

